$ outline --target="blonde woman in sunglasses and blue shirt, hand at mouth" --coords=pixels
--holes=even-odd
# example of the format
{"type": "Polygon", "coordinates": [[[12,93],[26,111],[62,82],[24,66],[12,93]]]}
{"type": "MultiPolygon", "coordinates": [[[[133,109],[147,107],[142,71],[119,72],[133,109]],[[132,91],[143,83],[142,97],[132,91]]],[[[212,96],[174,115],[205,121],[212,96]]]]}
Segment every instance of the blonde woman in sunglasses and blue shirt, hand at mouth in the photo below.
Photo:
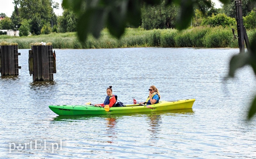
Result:
{"type": "Polygon", "coordinates": [[[148,91],[149,95],[146,102],[140,102],[140,104],[151,105],[158,103],[161,96],[156,86],[150,86],[148,91]]]}

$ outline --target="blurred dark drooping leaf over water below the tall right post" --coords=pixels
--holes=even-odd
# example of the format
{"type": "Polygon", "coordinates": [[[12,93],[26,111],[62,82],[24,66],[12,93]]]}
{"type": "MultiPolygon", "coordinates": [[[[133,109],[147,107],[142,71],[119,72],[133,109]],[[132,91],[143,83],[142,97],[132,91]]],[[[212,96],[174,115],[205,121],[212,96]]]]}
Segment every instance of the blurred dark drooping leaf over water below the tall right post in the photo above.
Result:
{"type": "Polygon", "coordinates": [[[250,58],[251,56],[248,52],[234,55],[230,60],[228,75],[234,77],[235,72],[238,68],[250,64],[250,58]]]}

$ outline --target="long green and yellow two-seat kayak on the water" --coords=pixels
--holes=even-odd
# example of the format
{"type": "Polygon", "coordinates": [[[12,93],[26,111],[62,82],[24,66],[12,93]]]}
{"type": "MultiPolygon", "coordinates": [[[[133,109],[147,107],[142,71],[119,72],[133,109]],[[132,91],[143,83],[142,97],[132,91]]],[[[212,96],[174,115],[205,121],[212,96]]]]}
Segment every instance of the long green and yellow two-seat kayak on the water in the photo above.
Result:
{"type": "Polygon", "coordinates": [[[152,112],[161,110],[191,109],[195,99],[183,99],[177,101],[159,101],[157,104],[140,105],[131,104],[125,107],[111,107],[106,111],[102,107],[92,105],[49,105],[49,108],[58,115],[87,115],[87,114],[119,114],[152,112]]]}

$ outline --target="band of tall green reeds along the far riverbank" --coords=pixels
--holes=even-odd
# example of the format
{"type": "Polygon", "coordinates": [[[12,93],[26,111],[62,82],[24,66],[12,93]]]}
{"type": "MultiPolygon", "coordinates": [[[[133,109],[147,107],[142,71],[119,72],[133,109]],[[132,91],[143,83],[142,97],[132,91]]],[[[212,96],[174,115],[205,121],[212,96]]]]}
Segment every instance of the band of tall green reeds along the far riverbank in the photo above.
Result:
{"type": "MultiPolygon", "coordinates": [[[[179,31],[177,29],[126,28],[124,35],[116,39],[105,28],[99,39],[88,36],[81,43],[76,32],[51,33],[34,36],[14,37],[0,35],[0,43],[17,43],[19,49],[30,49],[31,43],[50,42],[54,49],[103,49],[129,47],[199,47],[199,48],[238,48],[232,27],[197,26],[179,31]]],[[[249,41],[256,29],[246,30],[249,41]]],[[[237,34],[237,33],[235,33],[237,34]]]]}

